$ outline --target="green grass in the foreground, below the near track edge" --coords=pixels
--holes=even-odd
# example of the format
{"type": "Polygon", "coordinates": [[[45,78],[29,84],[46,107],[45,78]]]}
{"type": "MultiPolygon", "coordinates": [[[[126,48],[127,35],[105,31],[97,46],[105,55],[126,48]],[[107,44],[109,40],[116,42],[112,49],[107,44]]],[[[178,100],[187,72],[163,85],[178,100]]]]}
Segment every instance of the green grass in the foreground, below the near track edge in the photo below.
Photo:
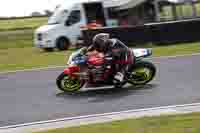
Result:
{"type": "Polygon", "coordinates": [[[129,119],[37,133],[199,133],[200,113],[129,119]]]}

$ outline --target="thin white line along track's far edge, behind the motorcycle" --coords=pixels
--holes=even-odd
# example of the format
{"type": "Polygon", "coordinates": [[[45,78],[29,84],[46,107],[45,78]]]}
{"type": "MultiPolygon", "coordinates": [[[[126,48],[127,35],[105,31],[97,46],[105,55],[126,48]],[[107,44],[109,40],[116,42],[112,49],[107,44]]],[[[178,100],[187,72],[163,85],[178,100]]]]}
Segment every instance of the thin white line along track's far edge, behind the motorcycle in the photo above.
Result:
{"type": "MultiPolygon", "coordinates": [[[[152,57],[152,58],[149,58],[149,59],[171,59],[171,58],[179,58],[179,57],[187,57],[187,56],[200,56],[200,53],[186,54],[186,55],[176,55],[176,56],[152,57]]],[[[48,69],[56,69],[56,68],[65,68],[65,67],[66,67],[66,66],[49,66],[49,67],[40,67],[40,68],[33,68],[33,69],[23,69],[23,70],[5,71],[5,72],[0,72],[0,74],[17,73],[17,72],[34,72],[34,71],[41,71],[41,70],[48,70],[48,69]]]]}

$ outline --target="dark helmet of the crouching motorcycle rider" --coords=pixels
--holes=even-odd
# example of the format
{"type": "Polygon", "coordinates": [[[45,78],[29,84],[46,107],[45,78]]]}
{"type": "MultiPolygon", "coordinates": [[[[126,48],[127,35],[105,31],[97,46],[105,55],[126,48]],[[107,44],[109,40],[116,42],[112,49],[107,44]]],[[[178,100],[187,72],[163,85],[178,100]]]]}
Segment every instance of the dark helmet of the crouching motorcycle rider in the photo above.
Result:
{"type": "Polygon", "coordinates": [[[94,36],[93,38],[93,45],[96,49],[99,49],[100,51],[104,51],[106,49],[106,44],[108,40],[110,39],[110,35],[108,33],[99,33],[94,36]]]}

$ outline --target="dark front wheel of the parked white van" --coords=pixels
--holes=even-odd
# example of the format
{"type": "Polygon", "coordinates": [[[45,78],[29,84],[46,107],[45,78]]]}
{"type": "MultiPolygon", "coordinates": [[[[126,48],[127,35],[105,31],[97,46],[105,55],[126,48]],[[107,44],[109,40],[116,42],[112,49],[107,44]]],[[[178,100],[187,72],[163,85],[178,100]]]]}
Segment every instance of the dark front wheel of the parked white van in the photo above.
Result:
{"type": "Polygon", "coordinates": [[[68,39],[61,37],[57,40],[56,46],[59,50],[67,50],[70,46],[68,39]]]}

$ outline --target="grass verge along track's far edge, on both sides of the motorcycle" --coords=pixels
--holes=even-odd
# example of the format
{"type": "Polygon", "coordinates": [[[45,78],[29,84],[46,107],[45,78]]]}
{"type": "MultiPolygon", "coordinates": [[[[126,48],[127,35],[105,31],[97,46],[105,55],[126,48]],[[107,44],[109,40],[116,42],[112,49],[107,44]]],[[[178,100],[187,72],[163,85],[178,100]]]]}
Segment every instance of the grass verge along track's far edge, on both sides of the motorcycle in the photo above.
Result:
{"type": "MultiPolygon", "coordinates": [[[[200,43],[150,47],[154,57],[200,53],[200,43]]],[[[0,49],[0,71],[65,65],[72,51],[44,52],[32,47],[0,49]]]]}

